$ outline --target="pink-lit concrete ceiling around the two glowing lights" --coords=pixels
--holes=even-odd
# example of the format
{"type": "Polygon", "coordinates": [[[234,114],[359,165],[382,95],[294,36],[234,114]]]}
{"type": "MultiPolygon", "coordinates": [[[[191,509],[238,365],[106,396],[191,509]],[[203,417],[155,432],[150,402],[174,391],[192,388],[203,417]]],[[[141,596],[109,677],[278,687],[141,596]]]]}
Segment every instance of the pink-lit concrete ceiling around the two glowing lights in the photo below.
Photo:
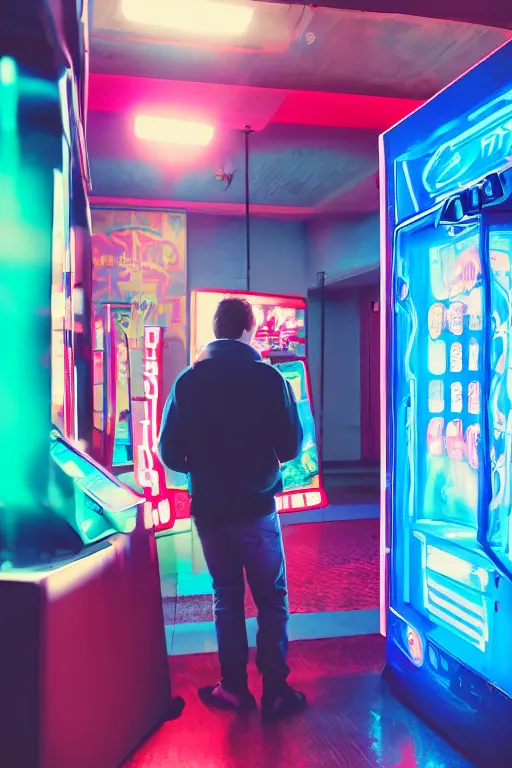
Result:
{"type": "Polygon", "coordinates": [[[253,213],[298,218],[375,210],[378,133],[512,37],[468,23],[266,2],[255,3],[237,46],[136,26],[120,0],[95,0],[93,18],[93,200],[243,213],[242,130],[250,125],[253,213]],[[214,140],[202,150],[141,142],[137,112],[207,122],[214,140]],[[229,189],[217,169],[234,173],[229,189]]]}

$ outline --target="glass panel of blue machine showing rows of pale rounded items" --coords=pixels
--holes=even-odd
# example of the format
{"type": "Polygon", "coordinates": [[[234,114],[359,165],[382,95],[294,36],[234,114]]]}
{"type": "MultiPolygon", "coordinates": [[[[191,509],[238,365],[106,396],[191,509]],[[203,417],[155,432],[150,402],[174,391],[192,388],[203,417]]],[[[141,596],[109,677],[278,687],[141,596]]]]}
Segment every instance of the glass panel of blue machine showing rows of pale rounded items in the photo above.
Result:
{"type": "Polygon", "coordinates": [[[397,333],[407,348],[397,390],[402,406],[407,403],[407,417],[398,427],[402,439],[397,450],[401,456],[401,446],[408,449],[403,458],[409,464],[410,515],[476,529],[482,383],[479,233],[476,227],[452,237],[441,228],[408,229],[400,233],[398,246],[397,333]]]}

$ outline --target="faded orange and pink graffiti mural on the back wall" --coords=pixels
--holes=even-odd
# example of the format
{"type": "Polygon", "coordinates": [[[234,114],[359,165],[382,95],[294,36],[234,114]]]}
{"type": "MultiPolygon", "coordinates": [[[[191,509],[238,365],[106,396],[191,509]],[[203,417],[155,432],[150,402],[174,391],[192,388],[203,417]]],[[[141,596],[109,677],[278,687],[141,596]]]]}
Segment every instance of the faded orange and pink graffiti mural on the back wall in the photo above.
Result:
{"type": "Polygon", "coordinates": [[[93,305],[154,304],[151,325],[164,328],[164,391],[187,365],[186,214],[93,209],[93,305]]]}

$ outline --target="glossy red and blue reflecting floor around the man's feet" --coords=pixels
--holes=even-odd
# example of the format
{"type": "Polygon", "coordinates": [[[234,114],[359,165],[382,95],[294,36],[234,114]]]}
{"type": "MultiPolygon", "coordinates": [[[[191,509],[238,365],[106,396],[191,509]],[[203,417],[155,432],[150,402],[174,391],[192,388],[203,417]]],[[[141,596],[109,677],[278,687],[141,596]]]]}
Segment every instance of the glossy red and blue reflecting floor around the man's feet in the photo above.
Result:
{"type": "MultiPolygon", "coordinates": [[[[159,542],[167,641],[173,692],[186,708],[125,768],[470,768],[382,684],[384,641],[372,634],[378,628],[378,508],[371,493],[339,489],[334,496],[318,519],[290,525],[297,519],[283,518],[292,682],[308,695],[310,709],[263,727],[257,713],[242,717],[203,707],[197,688],[218,677],[216,654],[202,652],[215,650],[211,581],[194,536],[168,537],[159,542]]],[[[246,609],[253,645],[249,595],[246,609]]],[[[258,694],[252,664],[250,680],[258,694]]]]}

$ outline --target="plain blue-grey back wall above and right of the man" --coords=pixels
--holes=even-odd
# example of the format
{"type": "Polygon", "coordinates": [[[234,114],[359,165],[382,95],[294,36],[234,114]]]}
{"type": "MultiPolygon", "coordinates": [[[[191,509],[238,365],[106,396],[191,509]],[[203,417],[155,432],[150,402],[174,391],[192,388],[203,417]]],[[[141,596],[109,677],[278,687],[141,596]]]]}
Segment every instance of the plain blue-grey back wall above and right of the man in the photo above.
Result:
{"type": "MultiPolygon", "coordinates": [[[[251,221],[251,290],[305,296],[325,270],[328,283],[373,269],[379,259],[378,216],[311,222],[251,221]]],[[[188,214],[189,290],[245,290],[243,217],[188,214]]],[[[327,292],[324,460],[361,457],[360,310],[357,289],[327,292]]],[[[315,416],[320,410],[320,303],[310,293],[308,338],[315,416]]],[[[174,375],[174,374],[173,374],[174,375]]]]}

